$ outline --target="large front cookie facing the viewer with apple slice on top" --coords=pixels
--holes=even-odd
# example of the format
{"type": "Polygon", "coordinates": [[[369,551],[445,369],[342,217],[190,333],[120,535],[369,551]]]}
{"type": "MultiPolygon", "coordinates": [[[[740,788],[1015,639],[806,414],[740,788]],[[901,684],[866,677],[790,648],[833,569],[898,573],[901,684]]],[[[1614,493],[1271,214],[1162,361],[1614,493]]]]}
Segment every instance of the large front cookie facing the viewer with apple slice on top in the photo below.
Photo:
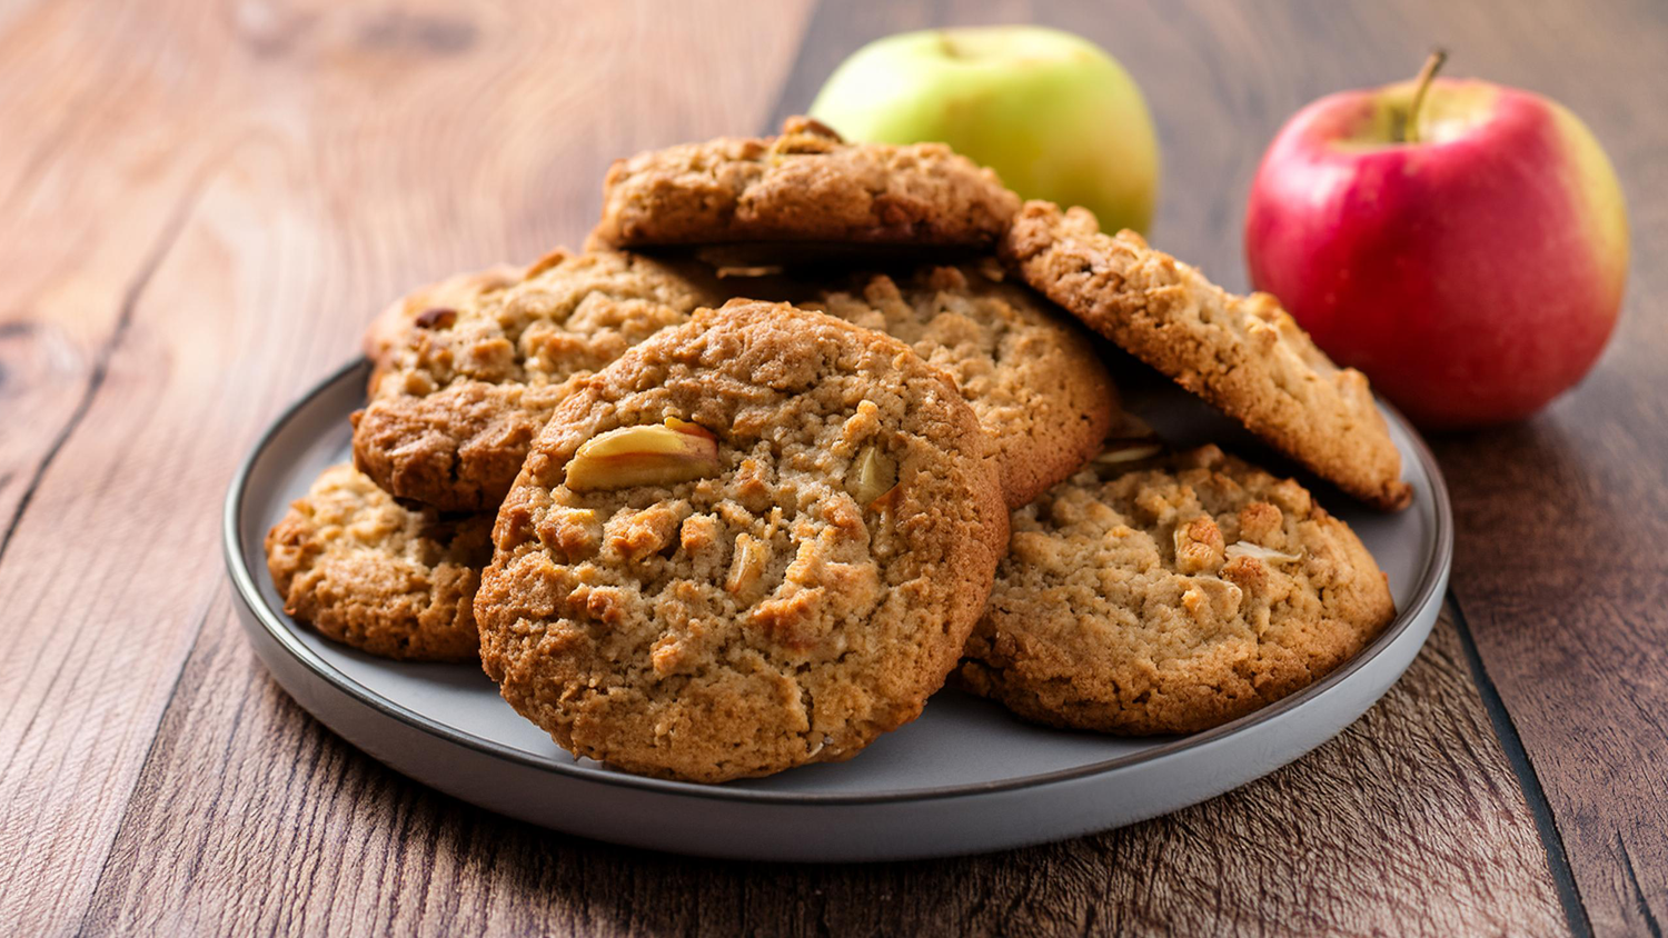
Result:
{"type": "Polygon", "coordinates": [[[732,302],[552,415],[499,511],[482,665],[564,748],[726,781],[854,756],[956,666],[1007,538],[907,345],[732,302]]]}

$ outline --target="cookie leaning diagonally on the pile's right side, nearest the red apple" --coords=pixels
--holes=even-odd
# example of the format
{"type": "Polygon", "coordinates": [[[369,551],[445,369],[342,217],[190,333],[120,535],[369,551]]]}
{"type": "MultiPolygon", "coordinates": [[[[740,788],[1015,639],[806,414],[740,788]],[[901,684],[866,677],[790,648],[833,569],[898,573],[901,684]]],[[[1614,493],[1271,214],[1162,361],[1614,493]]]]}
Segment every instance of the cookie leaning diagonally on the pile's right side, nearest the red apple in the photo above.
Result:
{"type": "Polygon", "coordinates": [[[1268,293],[1228,293],[1141,235],[1106,235],[1088,210],[1048,202],[1026,203],[1001,253],[1042,295],[1349,495],[1381,510],[1413,500],[1366,377],[1334,365],[1268,293]]]}

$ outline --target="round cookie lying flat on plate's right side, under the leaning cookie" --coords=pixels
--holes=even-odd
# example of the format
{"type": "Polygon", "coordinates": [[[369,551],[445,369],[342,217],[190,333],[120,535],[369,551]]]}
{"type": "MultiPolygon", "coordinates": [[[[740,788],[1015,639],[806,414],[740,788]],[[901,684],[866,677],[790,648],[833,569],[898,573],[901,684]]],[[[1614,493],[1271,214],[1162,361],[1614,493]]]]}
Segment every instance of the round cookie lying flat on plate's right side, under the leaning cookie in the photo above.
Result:
{"type": "Polygon", "coordinates": [[[1394,616],[1348,525],[1216,447],[1129,450],[1014,511],[961,685],[1053,726],[1193,733],[1323,678],[1394,616]]]}

